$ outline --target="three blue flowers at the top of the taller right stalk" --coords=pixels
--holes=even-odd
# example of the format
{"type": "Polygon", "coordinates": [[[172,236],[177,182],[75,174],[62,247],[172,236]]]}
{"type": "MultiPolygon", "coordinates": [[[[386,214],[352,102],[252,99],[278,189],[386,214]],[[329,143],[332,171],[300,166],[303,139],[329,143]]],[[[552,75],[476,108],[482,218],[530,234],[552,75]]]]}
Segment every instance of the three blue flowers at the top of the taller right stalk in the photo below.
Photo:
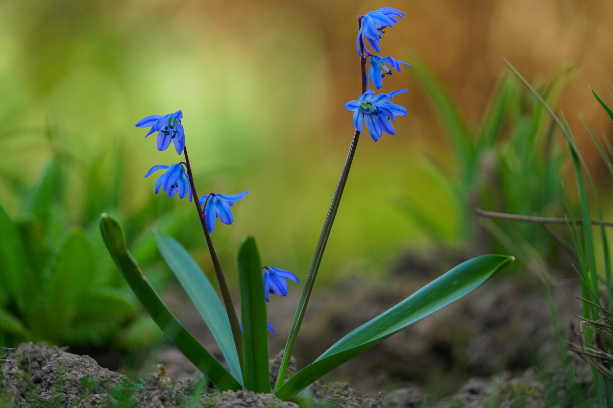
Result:
{"type": "MultiPolygon", "coordinates": [[[[366,48],[366,40],[373,50],[380,52],[381,35],[385,34],[383,30],[387,26],[393,27],[404,15],[405,13],[400,10],[383,7],[360,17],[360,29],[356,40],[357,53],[362,57],[362,64],[364,64],[365,59],[370,58],[367,81],[370,78],[370,82],[376,89],[381,89],[383,86],[384,76],[392,75],[392,70],[388,65],[397,72],[401,71],[400,65],[409,65],[409,67],[411,65],[392,57],[373,55],[366,48]]],[[[400,89],[389,94],[375,95],[375,91],[368,90],[360,95],[358,100],[346,103],[345,108],[354,112],[353,123],[357,132],[364,133],[362,124],[366,124],[368,133],[374,141],[378,141],[383,136],[383,132],[395,135],[396,132],[391,122],[396,120],[396,116],[405,116],[406,109],[389,101],[395,95],[406,91],[406,89],[400,89]]]]}

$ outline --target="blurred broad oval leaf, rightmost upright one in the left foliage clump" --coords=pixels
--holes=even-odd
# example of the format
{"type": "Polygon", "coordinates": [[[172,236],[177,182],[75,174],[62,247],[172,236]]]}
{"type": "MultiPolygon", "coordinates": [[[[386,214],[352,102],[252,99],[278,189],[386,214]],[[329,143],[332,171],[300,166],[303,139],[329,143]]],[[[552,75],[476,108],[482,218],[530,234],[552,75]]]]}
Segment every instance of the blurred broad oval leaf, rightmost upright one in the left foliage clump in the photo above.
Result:
{"type": "Polygon", "coordinates": [[[51,259],[47,273],[42,307],[49,338],[57,340],[96,273],[93,250],[83,231],[75,229],[66,237],[58,255],[51,259]]]}

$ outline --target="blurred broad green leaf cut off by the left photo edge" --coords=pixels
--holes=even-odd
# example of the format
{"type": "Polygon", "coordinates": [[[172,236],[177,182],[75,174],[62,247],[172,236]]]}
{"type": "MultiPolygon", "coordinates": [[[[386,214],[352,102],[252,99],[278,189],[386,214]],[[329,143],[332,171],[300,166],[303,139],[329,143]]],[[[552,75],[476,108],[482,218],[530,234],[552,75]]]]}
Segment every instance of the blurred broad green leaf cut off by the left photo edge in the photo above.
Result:
{"type": "Polygon", "coordinates": [[[23,310],[31,293],[29,269],[19,232],[9,215],[0,206],[0,306],[11,298],[23,310]]]}

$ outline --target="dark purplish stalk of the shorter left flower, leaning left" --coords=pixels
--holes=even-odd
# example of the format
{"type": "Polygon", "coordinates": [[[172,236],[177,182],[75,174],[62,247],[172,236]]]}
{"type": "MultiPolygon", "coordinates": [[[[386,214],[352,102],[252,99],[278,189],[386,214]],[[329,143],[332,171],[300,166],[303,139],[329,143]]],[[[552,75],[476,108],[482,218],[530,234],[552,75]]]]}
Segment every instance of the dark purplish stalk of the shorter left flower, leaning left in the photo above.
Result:
{"type": "Polygon", "coordinates": [[[215,251],[215,247],[213,247],[211,235],[208,232],[207,223],[202,217],[202,206],[200,206],[200,200],[198,199],[198,193],[196,192],[196,185],[194,184],[194,175],[192,174],[191,165],[189,165],[187,147],[183,147],[183,155],[185,155],[185,167],[187,168],[189,183],[191,184],[191,192],[194,198],[194,204],[196,204],[196,209],[198,210],[198,218],[200,219],[200,225],[202,225],[202,231],[204,232],[204,237],[207,240],[208,251],[211,254],[211,261],[213,262],[213,269],[215,269],[215,276],[217,277],[219,289],[221,290],[221,297],[224,301],[224,306],[226,307],[228,320],[230,321],[230,328],[232,329],[232,336],[234,337],[234,345],[236,346],[236,352],[238,354],[238,363],[240,364],[240,371],[241,375],[243,376],[244,383],[245,364],[243,362],[243,339],[240,332],[240,325],[238,324],[238,317],[236,316],[234,303],[232,303],[232,297],[230,296],[230,291],[228,289],[223,270],[221,269],[219,258],[215,251]]]}

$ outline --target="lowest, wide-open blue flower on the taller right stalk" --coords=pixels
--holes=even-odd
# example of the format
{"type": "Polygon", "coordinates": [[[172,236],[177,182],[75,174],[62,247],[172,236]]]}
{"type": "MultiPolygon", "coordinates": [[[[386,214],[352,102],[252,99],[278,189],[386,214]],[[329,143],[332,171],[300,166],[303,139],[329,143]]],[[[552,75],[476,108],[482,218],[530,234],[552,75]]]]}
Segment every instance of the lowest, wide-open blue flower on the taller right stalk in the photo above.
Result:
{"type": "Polygon", "coordinates": [[[396,116],[405,116],[406,109],[389,101],[396,95],[406,91],[407,89],[400,89],[389,94],[378,95],[375,95],[375,91],[366,91],[360,95],[359,100],[347,102],[345,108],[349,111],[354,111],[353,124],[356,130],[364,133],[362,132],[362,122],[364,122],[370,137],[374,141],[378,141],[381,138],[382,132],[395,135],[396,131],[390,121],[395,121],[396,116]]]}

